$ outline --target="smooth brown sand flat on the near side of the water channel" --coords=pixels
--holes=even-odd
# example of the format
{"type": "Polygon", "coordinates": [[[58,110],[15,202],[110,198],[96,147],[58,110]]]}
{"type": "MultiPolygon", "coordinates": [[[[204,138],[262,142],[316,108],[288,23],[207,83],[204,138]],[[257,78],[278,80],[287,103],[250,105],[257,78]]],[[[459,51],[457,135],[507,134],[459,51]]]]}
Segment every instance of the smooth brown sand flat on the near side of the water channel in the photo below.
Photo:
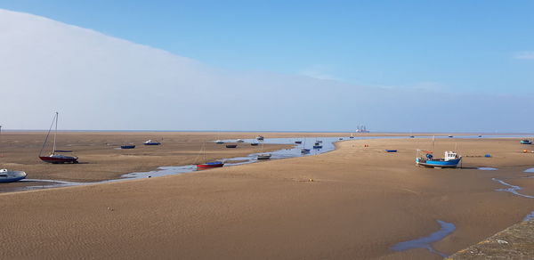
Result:
{"type": "Polygon", "coordinates": [[[492,180],[534,195],[523,172],[534,154],[519,139],[438,140],[436,155],[455,144],[472,156],[463,169],[415,167],[428,139],[351,140],[312,157],[0,194],[0,258],[441,259],[390,247],[438,231],[441,220],[456,230],[432,246],[449,255],[534,210],[533,199],[496,191],[506,187],[492,180]],[[493,158],[478,157],[486,153],[493,158]]]}

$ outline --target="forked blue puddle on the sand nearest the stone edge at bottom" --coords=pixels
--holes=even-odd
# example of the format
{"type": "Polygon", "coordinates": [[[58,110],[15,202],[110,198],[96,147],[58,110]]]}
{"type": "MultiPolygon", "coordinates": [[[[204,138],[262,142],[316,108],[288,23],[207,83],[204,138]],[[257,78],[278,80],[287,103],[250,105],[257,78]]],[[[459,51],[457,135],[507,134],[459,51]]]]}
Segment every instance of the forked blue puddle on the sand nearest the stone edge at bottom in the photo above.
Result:
{"type": "Polygon", "coordinates": [[[433,232],[432,234],[424,238],[397,243],[393,245],[390,249],[392,249],[393,251],[404,251],[415,248],[425,248],[433,254],[440,255],[441,257],[447,257],[447,254],[435,250],[430,244],[435,241],[442,240],[451,232],[454,232],[456,230],[456,226],[453,223],[446,223],[441,220],[437,220],[437,222],[441,225],[441,229],[439,231],[433,232]]]}

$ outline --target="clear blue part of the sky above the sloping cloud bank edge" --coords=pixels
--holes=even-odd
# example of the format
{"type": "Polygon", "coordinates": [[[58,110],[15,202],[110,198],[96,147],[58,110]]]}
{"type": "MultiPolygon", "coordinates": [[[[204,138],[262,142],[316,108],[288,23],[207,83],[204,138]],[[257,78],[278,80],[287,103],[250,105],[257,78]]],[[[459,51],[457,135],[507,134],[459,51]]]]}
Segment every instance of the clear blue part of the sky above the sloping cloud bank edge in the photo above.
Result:
{"type": "Polygon", "coordinates": [[[218,68],[534,93],[532,1],[0,1],[218,68]]]}

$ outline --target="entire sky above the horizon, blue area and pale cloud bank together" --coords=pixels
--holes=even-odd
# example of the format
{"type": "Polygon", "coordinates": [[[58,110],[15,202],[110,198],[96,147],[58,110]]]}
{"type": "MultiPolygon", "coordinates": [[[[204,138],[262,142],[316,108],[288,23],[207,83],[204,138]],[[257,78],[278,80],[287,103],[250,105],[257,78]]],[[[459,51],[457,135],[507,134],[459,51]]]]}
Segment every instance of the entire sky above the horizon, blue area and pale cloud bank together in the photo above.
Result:
{"type": "Polygon", "coordinates": [[[66,129],[532,132],[532,7],[0,0],[0,88],[20,108],[0,122],[43,129],[60,110],[66,129]]]}

